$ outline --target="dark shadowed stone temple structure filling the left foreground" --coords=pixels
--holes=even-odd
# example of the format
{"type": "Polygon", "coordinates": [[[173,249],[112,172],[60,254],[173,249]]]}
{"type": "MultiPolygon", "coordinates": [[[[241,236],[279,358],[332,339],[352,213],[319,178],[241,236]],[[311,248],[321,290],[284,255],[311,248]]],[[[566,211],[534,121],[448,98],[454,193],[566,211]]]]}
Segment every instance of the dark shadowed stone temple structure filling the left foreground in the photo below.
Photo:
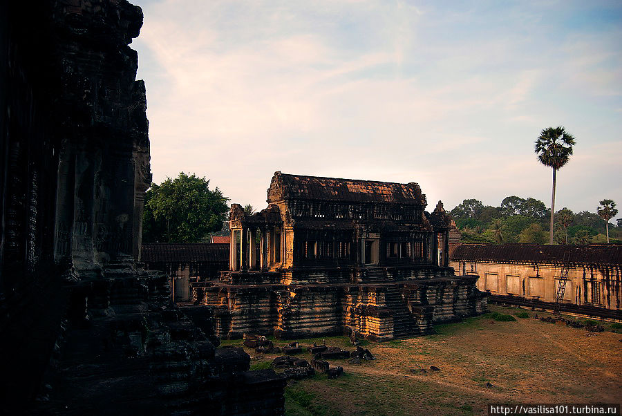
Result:
{"type": "Polygon", "coordinates": [[[141,267],[141,26],[126,0],[0,2],[0,413],[282,414],[285,379],[141,267]]]}

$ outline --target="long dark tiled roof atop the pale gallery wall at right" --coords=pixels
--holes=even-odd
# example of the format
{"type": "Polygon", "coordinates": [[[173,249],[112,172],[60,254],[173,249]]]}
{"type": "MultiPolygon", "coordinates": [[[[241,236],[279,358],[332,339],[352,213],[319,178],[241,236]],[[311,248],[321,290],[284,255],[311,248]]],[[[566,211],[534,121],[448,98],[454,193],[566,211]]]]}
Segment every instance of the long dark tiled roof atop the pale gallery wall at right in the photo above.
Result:
{"type": "Polygon", "coordinates": [[[449,250],[452,261],[622,265],[622,245],[459,244],[449,250]]]}

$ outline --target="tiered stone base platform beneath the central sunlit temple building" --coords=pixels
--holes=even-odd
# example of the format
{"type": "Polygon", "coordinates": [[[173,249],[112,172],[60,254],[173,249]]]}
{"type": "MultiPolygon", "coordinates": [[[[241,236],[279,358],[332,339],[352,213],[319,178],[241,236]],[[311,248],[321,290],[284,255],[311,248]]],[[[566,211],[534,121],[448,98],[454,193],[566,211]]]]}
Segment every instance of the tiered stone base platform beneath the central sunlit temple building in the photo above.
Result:
{"type": "Polygon", "coordinates": [[[350,334],[353,329],[360,337],[386,341],[428,334],[433,323],[487,310],[486,296],[475,289],[475,276],[271,285],[261,283],[265,274],[245,275],[254,276],[252,283],[220,281],[194,287],[196,304],[216,308],[218,337],[258,333],[295,339],[350,334]]]}

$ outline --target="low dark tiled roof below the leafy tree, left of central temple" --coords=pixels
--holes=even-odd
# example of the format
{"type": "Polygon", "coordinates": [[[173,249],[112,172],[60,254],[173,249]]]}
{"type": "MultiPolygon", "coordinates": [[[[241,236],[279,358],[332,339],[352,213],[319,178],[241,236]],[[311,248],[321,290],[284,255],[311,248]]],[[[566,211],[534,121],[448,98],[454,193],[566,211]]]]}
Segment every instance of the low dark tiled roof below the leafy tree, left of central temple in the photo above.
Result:
{"type": "Polygon", "coordinates": [[[228,262],[229,244],[144,244],[141,261],[142,263],[228,262]]]}

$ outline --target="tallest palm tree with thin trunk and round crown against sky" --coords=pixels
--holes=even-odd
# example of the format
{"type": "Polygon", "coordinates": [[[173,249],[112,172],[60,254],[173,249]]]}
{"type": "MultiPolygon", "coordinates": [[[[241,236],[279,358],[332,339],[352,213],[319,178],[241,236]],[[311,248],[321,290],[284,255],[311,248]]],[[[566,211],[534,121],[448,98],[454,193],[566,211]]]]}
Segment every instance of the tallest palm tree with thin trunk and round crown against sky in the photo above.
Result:
{"type": "Polygon", "coordinates": [[[553,168],[553,196],[551,199],[551,227],[549,229],[549,244],[553,244],[553,215],[555,212],[555,178],[557,171],[567,164],[572,155],[574,137],[566,133],[562,126],[544,129],[536,140],[536,153],[542,164],[553,168]]]}

